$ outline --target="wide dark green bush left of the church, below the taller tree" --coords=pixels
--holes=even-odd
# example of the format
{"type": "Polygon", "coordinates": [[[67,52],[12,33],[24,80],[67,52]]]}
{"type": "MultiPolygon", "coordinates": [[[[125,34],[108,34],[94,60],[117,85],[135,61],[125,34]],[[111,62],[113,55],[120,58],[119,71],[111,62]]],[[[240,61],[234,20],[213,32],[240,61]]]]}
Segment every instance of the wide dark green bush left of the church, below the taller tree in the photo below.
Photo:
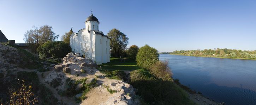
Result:
{"type": "Polygon", "coordinates": [[[63,41],[48,41],[38,47],[40,57],[63,58],[67,53],[72,52],[69,43],[63,41]]]}

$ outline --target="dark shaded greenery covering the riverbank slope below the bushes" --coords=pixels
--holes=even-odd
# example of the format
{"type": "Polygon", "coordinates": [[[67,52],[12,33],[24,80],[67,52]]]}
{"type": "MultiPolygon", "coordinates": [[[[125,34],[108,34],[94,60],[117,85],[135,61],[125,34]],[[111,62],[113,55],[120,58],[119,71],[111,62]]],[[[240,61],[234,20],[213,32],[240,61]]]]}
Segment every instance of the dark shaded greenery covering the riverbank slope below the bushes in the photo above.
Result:
{"type": "Polygon", "coordinates": [[[148,70],[131,72],[131,85],[137,95],[150,105],[194,105],[184,90],[169,80],[154,77],[148,70]]]}

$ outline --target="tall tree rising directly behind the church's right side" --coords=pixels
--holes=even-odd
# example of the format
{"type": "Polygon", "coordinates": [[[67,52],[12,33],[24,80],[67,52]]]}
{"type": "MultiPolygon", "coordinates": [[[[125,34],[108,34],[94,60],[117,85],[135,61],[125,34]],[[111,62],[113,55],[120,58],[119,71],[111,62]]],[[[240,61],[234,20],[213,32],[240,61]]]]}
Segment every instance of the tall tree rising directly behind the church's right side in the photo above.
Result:
{"type": "Polygon", "coordinates": [[[126,37],[124,33],[115,28],[110,30],[107,35],[109,38],[111,38],[111,55],[115,57],[121,56],[121,53],[126,49],[127,44],[129,44],[129,38],[126,37]]]}

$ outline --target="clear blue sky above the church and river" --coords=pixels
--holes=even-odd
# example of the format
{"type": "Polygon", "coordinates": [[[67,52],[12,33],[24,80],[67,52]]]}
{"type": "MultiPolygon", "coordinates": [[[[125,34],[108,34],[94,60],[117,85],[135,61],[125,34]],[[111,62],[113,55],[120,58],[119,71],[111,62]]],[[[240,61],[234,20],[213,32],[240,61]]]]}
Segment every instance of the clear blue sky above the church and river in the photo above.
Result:
{"type": "Polygon", "coordinates": [[[33,25],[61,36],[85,28],[91,9],[100,31],[119,29],[128,47],[256,50],[256,0],[0,0],[0,30],[16,43],[33,25]]]}

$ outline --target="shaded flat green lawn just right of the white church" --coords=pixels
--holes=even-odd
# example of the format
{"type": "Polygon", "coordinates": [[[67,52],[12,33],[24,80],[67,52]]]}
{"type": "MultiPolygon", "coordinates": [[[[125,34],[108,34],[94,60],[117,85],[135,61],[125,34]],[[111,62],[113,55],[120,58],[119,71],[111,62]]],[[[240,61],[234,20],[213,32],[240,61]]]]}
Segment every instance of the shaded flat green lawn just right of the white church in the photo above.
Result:
{"type": "Polygon", "coordinates": [[[102,69],[106,70],[139,70],[139,66],[132,58],[110,58],[110,62],[100,64],[102,69]]]}

